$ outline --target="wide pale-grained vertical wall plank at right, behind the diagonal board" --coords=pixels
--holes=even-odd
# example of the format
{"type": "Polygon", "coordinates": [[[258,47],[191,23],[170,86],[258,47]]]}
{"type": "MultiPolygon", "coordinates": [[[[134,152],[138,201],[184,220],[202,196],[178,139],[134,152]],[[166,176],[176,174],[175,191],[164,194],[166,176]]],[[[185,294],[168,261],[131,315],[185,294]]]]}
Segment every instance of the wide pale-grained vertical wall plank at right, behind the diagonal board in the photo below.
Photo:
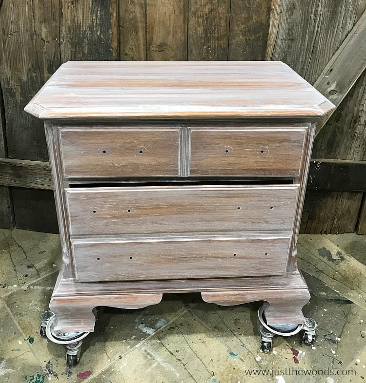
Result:
{"type": "MultiPolygon", "coordinates": [[[[272,0],[266,58],[283,60],[313,83],[365,9],[366,0],[272,0]]],[[[316,137],[313,158],[364,159],[366,133],[361,127],[365,124],[366,108],[364,86],[358,85],[363,81],[364,77],[359,78],[316,137]]],[[[362,193],[307,192],[301,230],[353,231],[361,196],[362,193]]]]}

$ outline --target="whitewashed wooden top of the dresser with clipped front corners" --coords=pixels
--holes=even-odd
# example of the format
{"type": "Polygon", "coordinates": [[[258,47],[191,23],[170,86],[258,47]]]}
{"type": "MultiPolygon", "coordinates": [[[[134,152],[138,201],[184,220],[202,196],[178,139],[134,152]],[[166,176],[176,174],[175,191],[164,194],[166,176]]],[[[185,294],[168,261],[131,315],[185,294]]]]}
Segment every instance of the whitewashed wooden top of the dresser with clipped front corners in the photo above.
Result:
{"type": "Polygon", "coordinates": [[[24,110],[42,119],[222,118],[333,108],[281,61],[68,61],[24,110]]]}

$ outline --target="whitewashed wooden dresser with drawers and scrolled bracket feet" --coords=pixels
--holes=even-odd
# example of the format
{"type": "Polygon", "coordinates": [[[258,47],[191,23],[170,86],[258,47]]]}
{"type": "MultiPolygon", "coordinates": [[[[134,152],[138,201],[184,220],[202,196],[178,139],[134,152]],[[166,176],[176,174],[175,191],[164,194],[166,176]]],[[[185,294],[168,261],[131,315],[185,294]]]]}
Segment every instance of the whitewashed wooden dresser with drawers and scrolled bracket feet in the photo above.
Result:
{"type": "Polygon", "coordinates": [[[296,243],[317,119],[333,108],[280,61],[62,64],[25,107],[44,121],[54,180],[56,340],[93,331],[97,306],[177,292],[264,301],[268,327],[304,325],[296,243]]]}

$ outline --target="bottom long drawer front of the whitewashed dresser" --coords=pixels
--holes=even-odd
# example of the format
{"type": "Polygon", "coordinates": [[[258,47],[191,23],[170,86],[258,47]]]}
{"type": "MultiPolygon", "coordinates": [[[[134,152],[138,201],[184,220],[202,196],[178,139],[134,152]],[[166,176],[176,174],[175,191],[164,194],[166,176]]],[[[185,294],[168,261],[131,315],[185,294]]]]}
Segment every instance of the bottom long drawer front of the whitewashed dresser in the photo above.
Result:
{"type": "Polygon", "coordinates": [[[278,275],[285,273],[290,239],[74,242],[73,252],[81,282],[278,275]]]}

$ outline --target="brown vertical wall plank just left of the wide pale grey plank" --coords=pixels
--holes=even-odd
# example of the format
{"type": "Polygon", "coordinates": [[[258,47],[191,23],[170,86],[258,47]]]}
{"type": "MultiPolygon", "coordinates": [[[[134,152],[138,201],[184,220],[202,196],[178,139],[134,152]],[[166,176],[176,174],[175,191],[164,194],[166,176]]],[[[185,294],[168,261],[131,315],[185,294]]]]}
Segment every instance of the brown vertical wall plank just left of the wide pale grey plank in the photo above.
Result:
{"type": "Polygon", "coordinates": [[[231,0],[229,60],[264,60],[271,0],[231,0]]]}

